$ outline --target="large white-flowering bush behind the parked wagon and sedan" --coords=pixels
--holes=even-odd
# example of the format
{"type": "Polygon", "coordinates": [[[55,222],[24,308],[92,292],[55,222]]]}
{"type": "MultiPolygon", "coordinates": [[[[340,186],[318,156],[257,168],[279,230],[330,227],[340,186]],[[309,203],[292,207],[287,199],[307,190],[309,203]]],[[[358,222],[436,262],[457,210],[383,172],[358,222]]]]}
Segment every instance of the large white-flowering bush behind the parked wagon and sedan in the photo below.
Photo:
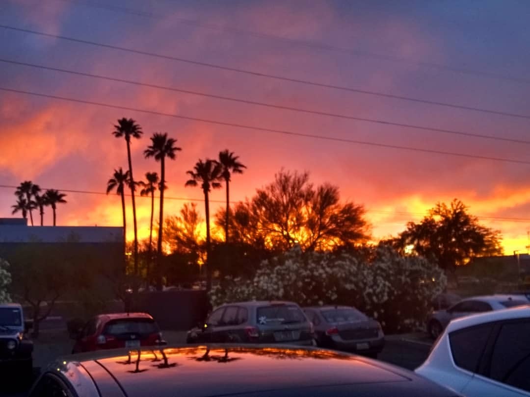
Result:
{"type": "Polygon", "coordinates": [[[347,253],[302,252],[295,247],[263,261],[251,279],[225,277],[210,302],[286,300],[302,306],[356,306],[387,331],[418,329],[432,298],[444,290],[443,270],[420,257],[403,257],[390,247],[372,248],[370,260],[347,253]]]}

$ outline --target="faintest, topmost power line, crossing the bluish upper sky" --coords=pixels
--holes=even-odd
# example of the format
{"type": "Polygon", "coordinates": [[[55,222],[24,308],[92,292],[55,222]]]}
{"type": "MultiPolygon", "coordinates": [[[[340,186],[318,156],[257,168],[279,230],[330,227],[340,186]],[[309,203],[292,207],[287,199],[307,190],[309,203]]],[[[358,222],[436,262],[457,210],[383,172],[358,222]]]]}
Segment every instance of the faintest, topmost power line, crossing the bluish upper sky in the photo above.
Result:
{"type": "MultiPolygon", "coordinates": [[[[112,5],[109,6],[109,5],[93,3],[93,2],[82,2],[78,0],[61,0],[61,1],[66,1],[69,3],[78,4],[78,5],[82,5],[86,7],[101,8],[103,10],[109,10],[112,12],[121,12],[125,14],[136,15],[136,16],[149,17],[152,19],[160,19],[160,18],[167,16],[163,14],[155,14],[152,12],[133,10],[132,8],[112,6],[112,5]]],[[[346,48],[346,47],[333,46],[332,44],[323,43],[323,42],[293,39],[293,38],[281,37],[281,36],[270,34],[270,33],[261,33],[261,32],[243,30],[243,29],[235,29],[235,28],[230,28],[230,27],[227,28],[224,26],[212,25],[212,24],[200,22],[197,20],[185,19],[185,18],[175,17],[175,16],[172,16],[172,20],[176,22],[180,22],[182,24],[198,26],[199,28],[203,28],[203,29],[216,30],[216,31],[227,32],[227,33],[236,34],[236,35],[250,36],[250,37],[255,37],[259,39],[280,41],[280,42],[284,42],[288,44],[294,44],[300,47],[310,48],[313,50],[343,52],[343,53],[348,53],[349,55],[354,55],[354,56],[359,56],[359,57],[366,57],[366,58],[372,58],[372,59],[377,59],[377,60],[385,60],[385,61],[396,62],[396,63],[401,63],[401,64],[408,64],[408,65],[419,65],[425,68],[435,68],[439,70],[451,71],[453,73],[475,75],[475,76],[480,76],[480,77],[487,77],[487,78],[517,82],[517,83],[530,84],[530,80],[525,79],[525,78],[499,75],[499,74],[490,73],[487,71],[459,68],[459,67],[454,67],[454,66],[449,66],[449,65],[444,65],[444,64],[438,64],[436,62],[412,61],[412,60],[405,59],[405,58],[400,58],[400,57],[391,56],[391,55],[383,55],[383,54],[378,54],[378,53],[374,53],[370,51],[361,51],[361,50],[355,50],[355,49],[346,48]]]]}

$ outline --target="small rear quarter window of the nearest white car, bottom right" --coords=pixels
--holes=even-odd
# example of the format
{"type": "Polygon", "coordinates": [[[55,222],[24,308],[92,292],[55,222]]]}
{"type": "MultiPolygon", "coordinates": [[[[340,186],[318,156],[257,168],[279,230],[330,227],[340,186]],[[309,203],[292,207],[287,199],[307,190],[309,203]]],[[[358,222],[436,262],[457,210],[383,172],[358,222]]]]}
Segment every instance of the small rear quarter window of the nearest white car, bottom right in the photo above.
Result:
{"type": "Polygon", "coordinates": [[[451,353],[458,367],[477,371],[492,329],[492,324],[482,324],[449,333],[451,353]]]}

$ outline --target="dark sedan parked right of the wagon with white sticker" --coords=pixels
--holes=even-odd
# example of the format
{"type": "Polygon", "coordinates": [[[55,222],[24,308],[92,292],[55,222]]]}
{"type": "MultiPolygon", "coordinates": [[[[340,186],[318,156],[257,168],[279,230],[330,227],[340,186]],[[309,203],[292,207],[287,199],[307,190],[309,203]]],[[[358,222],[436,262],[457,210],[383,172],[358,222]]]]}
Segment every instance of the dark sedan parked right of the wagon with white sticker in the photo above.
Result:
{"type": "Polygon", "coordinates": [[[304,308],[313,322],[316,344],[337,350],[354,351],[372,358],[383,350],[381,325],[351,306],[304,308]]]}

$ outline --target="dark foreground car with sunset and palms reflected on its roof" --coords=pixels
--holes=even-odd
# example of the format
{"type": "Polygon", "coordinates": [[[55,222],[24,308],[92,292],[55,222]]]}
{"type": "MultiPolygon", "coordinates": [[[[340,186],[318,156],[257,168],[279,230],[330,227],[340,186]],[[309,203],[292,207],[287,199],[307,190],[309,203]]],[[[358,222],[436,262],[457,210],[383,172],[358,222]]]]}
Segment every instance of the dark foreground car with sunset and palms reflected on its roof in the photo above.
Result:
{"type": "Polygon", "coordinates": [[[41,396],[456,396],[410,371],[317,348],[208,345],[107,350],[58,359],[41,396]]]}

